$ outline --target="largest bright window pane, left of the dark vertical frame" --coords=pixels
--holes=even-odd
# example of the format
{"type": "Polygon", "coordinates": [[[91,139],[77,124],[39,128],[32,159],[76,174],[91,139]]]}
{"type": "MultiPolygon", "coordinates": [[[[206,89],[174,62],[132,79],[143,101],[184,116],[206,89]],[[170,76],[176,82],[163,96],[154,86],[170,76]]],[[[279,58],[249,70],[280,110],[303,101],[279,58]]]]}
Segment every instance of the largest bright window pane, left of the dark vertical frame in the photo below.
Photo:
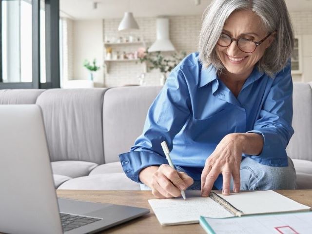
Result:
{"type": "Polygon", "coordinates": [[[32,81],[31,14],[29,2],[2,2],[3,82],[32,81]]]}

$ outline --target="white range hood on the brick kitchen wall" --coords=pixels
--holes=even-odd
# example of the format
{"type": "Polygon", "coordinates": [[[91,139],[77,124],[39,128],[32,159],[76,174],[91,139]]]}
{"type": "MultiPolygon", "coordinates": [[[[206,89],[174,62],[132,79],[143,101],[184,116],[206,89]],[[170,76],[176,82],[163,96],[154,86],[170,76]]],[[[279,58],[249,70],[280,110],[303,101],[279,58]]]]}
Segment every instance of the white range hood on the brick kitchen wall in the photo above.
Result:
{"type": "Polygon", "coordinates": [[[169,19],[157,18],[156,19],[156,41],[148,49],[148,52],[156,51],[175,51],[174,45],[169,39],[169,19]]]}

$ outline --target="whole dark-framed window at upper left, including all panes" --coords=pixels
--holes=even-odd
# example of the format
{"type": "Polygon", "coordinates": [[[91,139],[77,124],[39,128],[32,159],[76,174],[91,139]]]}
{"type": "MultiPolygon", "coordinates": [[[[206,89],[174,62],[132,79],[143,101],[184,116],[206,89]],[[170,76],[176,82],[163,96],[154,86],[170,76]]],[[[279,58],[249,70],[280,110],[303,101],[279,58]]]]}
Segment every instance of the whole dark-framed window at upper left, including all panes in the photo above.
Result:
{"type": "Polygon", "coordinates": [[[59,87],[59,0],[0,0],[0,89],[59,87]]]}

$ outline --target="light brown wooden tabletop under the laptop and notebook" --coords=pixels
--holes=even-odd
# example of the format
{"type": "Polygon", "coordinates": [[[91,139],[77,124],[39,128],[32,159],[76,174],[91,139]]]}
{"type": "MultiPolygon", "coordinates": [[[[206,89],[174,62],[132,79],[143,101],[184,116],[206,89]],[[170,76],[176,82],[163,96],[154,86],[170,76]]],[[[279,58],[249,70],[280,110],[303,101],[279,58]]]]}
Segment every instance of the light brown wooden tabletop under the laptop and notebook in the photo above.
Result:
{"type": "MultiPolygon", "coordinates": [[[[312,207],[312,190],[277,190],[276,192],[312,207]]],[[[63,198],[137,206],[151,210],[147,215],[103,231],[102,233],[105,234],[205,234],[199,224],[161,226],[148,203],[148,199],[154,199],[151,191],[57,190],[57,194],[63,198]]]]}

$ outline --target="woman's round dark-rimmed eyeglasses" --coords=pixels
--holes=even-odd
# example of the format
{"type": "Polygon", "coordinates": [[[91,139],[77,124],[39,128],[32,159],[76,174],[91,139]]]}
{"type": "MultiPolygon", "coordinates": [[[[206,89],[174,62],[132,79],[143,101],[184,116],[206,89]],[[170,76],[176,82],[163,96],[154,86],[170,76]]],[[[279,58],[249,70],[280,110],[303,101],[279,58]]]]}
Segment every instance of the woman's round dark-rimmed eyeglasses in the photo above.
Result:
{"type": "Polygon", "coordinates": [[[257,46],[260,45],[263,41],[265,41],[268,37],[270,37],[270,35],[272,33],[270,33],[268,36],[266,36],[264,39],[262,39],[260,41],[253,41],[251,39],[245,39],[245,38],[234,39],[234,38],[231,38],[226,33],[222,33],[217,44],[221,47],[228,47],[235,40],[235,41],[237,41],[237,47],[242,52],[253,53],[255,51],[255,49],[257,48],[257,46]]]}

